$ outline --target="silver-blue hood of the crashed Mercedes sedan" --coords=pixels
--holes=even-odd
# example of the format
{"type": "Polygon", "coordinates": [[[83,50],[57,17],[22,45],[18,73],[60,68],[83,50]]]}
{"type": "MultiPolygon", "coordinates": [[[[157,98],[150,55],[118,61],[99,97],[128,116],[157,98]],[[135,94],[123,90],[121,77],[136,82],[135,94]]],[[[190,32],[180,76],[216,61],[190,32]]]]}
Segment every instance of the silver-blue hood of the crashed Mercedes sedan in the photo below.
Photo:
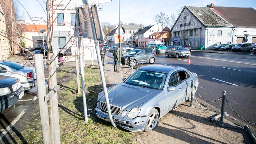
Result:
{"type": "MultiPolygon", "coordinates": [[[[142,88],[121,82],[108,90],[108,97],[110,104],[120,106],[122,110],[131,110],[141,106],[160,92],[161,90],[142,88]]],[[[99,94],[98,101],[106,102],[104,92],[99,94]]]]}

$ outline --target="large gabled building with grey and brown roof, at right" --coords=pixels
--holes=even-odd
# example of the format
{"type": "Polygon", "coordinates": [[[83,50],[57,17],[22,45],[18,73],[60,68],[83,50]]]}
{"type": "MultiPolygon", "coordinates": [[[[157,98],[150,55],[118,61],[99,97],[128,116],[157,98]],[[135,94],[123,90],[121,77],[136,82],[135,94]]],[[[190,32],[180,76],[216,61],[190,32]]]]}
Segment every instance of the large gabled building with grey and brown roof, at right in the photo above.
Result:
{"type": "Polygon", "coordinates": [[[246,30],[247,43],[256,42],[255,15],[253,8],[185,6],[171,29],[171,40],[174,45],[211,49],[221,43],[242,43],[246,30]]]}

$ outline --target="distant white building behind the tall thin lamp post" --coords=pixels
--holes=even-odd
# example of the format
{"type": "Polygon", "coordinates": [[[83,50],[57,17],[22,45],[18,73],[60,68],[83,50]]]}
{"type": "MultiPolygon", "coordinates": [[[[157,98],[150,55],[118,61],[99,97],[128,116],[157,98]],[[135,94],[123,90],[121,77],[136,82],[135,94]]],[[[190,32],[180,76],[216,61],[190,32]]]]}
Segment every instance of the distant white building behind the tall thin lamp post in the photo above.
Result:
{"type": "MultiPolygon", "coordinates": [[[[122,47],[127,44],[134,44],[135,37],[134,34],[139,29],[138,25],[123,25],[121,26],[121,37],[122,37],[122,47]]],[[[107,34],[108,46],[118,46],[119,42],[116,37],[118,36],[119,26],[115,25],[115,29],[107,34]]]]}

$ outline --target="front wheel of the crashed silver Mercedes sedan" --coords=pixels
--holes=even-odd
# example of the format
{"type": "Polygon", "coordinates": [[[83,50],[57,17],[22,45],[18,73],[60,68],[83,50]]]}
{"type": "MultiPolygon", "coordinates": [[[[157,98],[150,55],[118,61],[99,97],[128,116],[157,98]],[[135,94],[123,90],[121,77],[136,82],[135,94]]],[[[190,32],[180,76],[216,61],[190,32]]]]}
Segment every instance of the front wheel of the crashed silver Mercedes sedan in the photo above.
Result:
{"type": "Polygon", "coordinates": [[[145,132],[154,130],[157,127],[158,121],[159,121],[159,113],[155,108],[150,110],[150,112],[148,113],[148,116],[149,117],[148,117],[148,119],[146,121],[146,124],[144,126],[144,131],[145,132]]]}

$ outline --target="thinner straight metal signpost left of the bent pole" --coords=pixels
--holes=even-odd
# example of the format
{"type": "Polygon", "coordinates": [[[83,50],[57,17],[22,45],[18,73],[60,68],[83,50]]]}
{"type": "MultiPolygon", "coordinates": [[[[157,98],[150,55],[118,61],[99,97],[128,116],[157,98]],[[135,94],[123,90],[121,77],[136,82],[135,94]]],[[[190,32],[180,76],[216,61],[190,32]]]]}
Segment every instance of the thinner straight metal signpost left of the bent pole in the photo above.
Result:
{"type": "MultiPolygon", "coordinates": [[[[79,22],[79,14],[78,8],[76,8],[76,23],[77,23],[77,33],[80,33],[80,22],[79,22]]],[[[83,105],[84,105],[84,119],[85,122],[88,122],[87,116],[87,106],[86,106],[86,96],[85,96],[85,84],[84,84],[84,62],[82,56],[82,48],[81,48],[81,36],[78,36],[78,49],[79,49],[79,64],[80,64],[80,73],[81,73],[81,83],[82,83],[82,95],[83,95],[83,105]]]]}

